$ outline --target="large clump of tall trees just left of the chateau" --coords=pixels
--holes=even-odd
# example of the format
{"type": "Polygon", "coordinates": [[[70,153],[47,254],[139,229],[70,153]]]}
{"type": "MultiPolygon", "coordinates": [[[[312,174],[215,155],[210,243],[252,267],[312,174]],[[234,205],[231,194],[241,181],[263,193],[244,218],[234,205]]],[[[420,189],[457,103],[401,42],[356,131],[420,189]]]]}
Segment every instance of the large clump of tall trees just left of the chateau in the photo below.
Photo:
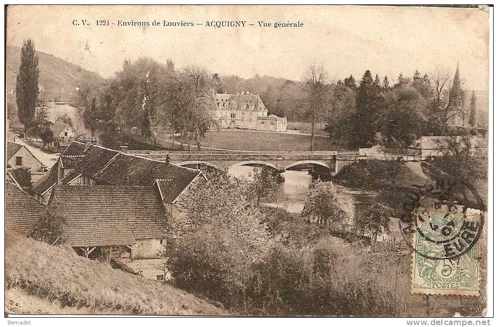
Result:
{"type": "Polygon", "coordinates": [[[176,70],[149,58],[125,61],[114,78],[82,85],[84,122],[93,133],[100,131],[104,145],[115,147],[120,135],[132,135],[151,144],[163,133],[175,141],[196,144],[217,125],[212,117],[210,96],[214,77],[202,67],[176,70]]]}

